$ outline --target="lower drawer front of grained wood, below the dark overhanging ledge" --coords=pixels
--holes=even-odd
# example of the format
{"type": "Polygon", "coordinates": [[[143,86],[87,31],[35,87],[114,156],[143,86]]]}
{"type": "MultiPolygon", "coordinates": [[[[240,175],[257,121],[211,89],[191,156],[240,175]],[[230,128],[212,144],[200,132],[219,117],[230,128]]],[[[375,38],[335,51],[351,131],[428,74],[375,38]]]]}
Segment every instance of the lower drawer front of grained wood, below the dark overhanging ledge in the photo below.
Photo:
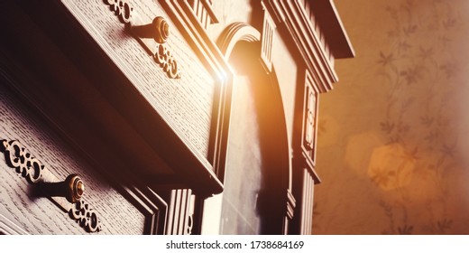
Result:
{"type": "MultiPolygon", "coordinates": [[[[58,136],[51,126],[44,123],[34,111],[25,105],[12,89],[1,80],[0,85],[0,138],[14,146],[10,151],[24,148],[21,155],[8,152],[3,146],[0,154],[0,232],[30,234],[143,234],[154,213],[136,199],[135,194],[124,187],[112,186],[110,178],[98,173],[91,164],[58,136]],[[28,174],[14,166],[14,159],[24,159],[43,165],[44,176],[63,180],[77,173],[85,183],[82,206],[69,203],[70,210],[63,210],[57,201],[41,194],[38,182],[28,180],[28,174]],[[75,209],[78,207],[78,210],[75,209]],[[83,215],[82,215],[83,214],[83,215]],[[97,224],[87,220],[94,214],[97,224]],[[78,216],[81,216],[78,219],[78,216]]],[[[16,161],[19,164],[20,161],[16,161]]],[[[20,166],[21,167],[21,166],[20,166]]],[[[33,171],[30,175],[34,178],[33,171]]],[[[57,200],[67,203],[64,197],[57,200]]],[[[164,211],[163,211],[164,212],[164,211]]]]}

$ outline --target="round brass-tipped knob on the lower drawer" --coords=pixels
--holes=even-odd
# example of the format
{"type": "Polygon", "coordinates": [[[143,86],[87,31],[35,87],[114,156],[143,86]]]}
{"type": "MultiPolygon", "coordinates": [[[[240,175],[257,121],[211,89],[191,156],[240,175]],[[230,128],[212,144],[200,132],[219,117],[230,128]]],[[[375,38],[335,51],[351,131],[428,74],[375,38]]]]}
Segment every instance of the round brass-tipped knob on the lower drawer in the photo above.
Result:
{"type": "Polygon", "coordinates": [[[41,183],[41,190],[48,197],[65,197],[67,201],[74,203],[83,196],[85,183],[78,174],[70,174],[63,182],[41,183]]]}

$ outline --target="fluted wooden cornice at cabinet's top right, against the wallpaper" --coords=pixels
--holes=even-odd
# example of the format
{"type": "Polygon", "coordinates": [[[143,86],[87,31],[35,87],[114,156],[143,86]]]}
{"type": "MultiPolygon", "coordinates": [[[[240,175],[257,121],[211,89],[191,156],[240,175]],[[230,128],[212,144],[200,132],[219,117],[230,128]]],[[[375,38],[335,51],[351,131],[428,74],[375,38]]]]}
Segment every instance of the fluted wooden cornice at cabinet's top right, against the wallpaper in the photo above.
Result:
{"type": "MultiPolygon", "coordinates": [[[[338,81],[334,70],[336,55],[342,58],[346,55],[354,55],[348,39],[343,40],[347,37],[342,28],[342,23],[336,15],[334,5],[330,2],[330,5],[314,5],[316,8],[325,9],[317,9],[317,12],[324,11],[326,13],[321,16],[323,19],[317,22],[331,23],[334,21],[336,23],[327,27],[326,30],[330,31],[321,34],[317,33],[317,30],[313,27],[302,1],[264,0],[264,4],[277,26],[283,27],[287,31],[287,34],[283,34],[283,36],[290,37],[295,42],[306,69],[313,73],[313,79],[319,92],[327,92],[333,89],[332,84],[338,81]],[[328,34],[328,37],[326,37],[326,34],[328,34]],[[343,38],[339,38],[340,36],[337,34],[343,34],[343,38]],[[339,38],[340,41],[329,41],[336,40],[336,38],[339,38]]],[[[280,35],[282,34],[280,33],[280,35]]]]}

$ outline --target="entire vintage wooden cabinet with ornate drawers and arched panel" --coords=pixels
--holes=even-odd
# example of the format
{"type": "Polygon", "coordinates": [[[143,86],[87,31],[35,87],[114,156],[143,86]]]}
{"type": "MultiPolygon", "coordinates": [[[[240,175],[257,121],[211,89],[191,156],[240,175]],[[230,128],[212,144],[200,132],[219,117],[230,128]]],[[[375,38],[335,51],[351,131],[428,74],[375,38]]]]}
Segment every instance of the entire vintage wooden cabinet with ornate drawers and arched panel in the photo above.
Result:
{"type": "Polygon", "coordinates": [[[332,1],[0,6],[0,233],[311,233],[332,1]]]}

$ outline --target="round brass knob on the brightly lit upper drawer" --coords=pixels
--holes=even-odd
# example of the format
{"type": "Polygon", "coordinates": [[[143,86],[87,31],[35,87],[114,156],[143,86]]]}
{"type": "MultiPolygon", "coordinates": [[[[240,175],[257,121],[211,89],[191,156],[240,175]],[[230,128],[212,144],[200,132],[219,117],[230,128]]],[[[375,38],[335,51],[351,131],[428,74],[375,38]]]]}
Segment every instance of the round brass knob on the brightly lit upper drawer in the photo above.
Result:
{"type": "Polygon", "coordinates": [[[170,25],[166,20],[157,16],[152,23],[144,25],[134,25],[131,28],[133,34],[140,38],[153,38],[155,42],[164,43],[170,36],[170,25]]]}

